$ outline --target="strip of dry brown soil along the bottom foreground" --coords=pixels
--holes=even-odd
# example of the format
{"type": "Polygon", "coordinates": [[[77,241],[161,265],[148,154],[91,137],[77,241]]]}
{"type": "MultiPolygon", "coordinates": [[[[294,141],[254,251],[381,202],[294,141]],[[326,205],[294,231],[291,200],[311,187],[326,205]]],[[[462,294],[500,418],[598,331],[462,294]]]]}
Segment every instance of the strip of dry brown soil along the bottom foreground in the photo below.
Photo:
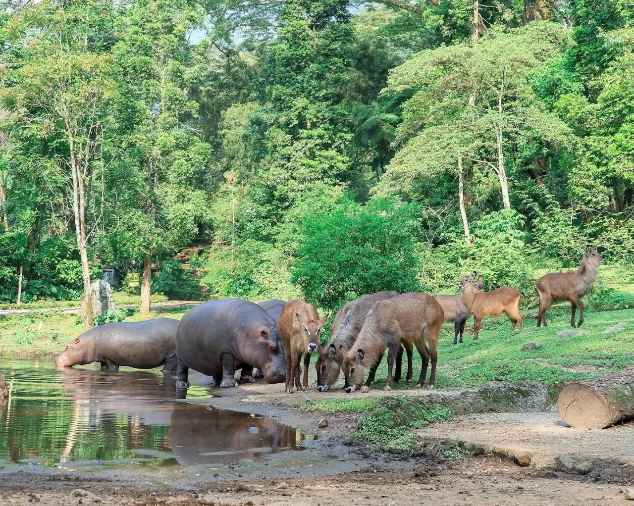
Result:
{"type": "Polygon", "coordinates": [[[441,505],[544,504],[612,505],[623,502],[621,488],[531,476],[526,470],[494,458],[474,458],[429,465],[410,472],[368,467],[325,479],[261,479],[227,481],[196,492],[152,486],[118,486],[103,481],[0,483],[0,504],[89,504],[93,497],[75,496],[80,488],[115,505],[441,505]],[[81,502],[80,502],[81,500],[81,502]]]}

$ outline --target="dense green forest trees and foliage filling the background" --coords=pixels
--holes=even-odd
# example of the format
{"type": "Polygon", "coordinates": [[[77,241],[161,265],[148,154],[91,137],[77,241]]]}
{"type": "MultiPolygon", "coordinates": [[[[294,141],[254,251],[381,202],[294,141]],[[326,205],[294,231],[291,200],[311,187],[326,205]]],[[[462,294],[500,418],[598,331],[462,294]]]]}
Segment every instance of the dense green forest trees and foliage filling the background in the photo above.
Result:
{"type": "Polygon", "coordinates": [[[145,261],[178,299],[332,310],[477,269],[530,303],[588,243],[631,264],[630,6],[438,5],[11,4],[0,302],[20,272],[23,302],[68,299],[145,261]]]}

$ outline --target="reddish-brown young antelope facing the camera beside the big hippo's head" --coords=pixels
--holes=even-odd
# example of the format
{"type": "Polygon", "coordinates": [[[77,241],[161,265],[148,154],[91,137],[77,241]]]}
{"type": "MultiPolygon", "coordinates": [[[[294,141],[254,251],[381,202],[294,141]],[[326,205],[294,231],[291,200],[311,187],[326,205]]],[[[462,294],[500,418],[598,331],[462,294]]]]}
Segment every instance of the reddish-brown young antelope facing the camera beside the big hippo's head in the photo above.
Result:
{"type": "Polygon", "coordinates": [[[321,326],[328,320],[328,315],[320,318],[313,304],[301,299],[288,301],[280,315],[278,325],[286,358],[286,387],[287,393],[293,392],[293,386],[297,391],[302,390],[299,382],[299,363],[304,353],[309,354],[308,360],[304,360],[304,388],[308,387],[308,365],[310,354],[317,349],[317,343],[321,339],[321,326]]]}

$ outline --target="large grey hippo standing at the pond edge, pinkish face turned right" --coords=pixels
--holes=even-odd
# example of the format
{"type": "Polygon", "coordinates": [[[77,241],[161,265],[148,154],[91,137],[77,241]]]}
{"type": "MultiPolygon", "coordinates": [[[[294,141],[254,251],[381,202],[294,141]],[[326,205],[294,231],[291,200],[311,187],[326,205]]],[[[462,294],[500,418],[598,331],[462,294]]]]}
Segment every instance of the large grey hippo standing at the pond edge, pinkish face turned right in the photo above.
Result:
{"type": "Polygon", "coordinates": [[[205,302],[190,309],[176,333],[176,355],[177,388],[189,386],[189,368],[211,376],[223,388],[236,386],[238,368],[242,382],[253,381],[254,367],[269,383],[286,377],[277,322],[261,306],[242,299],[205,302]]]}

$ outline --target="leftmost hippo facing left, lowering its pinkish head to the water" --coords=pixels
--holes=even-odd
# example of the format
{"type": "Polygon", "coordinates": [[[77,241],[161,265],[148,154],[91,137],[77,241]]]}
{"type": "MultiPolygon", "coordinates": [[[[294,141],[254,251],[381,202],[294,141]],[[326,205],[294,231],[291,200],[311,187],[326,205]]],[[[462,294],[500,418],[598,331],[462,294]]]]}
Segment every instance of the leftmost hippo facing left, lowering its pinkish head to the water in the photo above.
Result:
{"type": "Polygon", "coordinates": [[[102,371],[118,371],[121,365],[139,369],[164,365],[165,372],[174,372],[178,325],[172,318],[155,318],[94,327],[56,356],[55,366],[60,369],[100,362],[102,371]]]}

